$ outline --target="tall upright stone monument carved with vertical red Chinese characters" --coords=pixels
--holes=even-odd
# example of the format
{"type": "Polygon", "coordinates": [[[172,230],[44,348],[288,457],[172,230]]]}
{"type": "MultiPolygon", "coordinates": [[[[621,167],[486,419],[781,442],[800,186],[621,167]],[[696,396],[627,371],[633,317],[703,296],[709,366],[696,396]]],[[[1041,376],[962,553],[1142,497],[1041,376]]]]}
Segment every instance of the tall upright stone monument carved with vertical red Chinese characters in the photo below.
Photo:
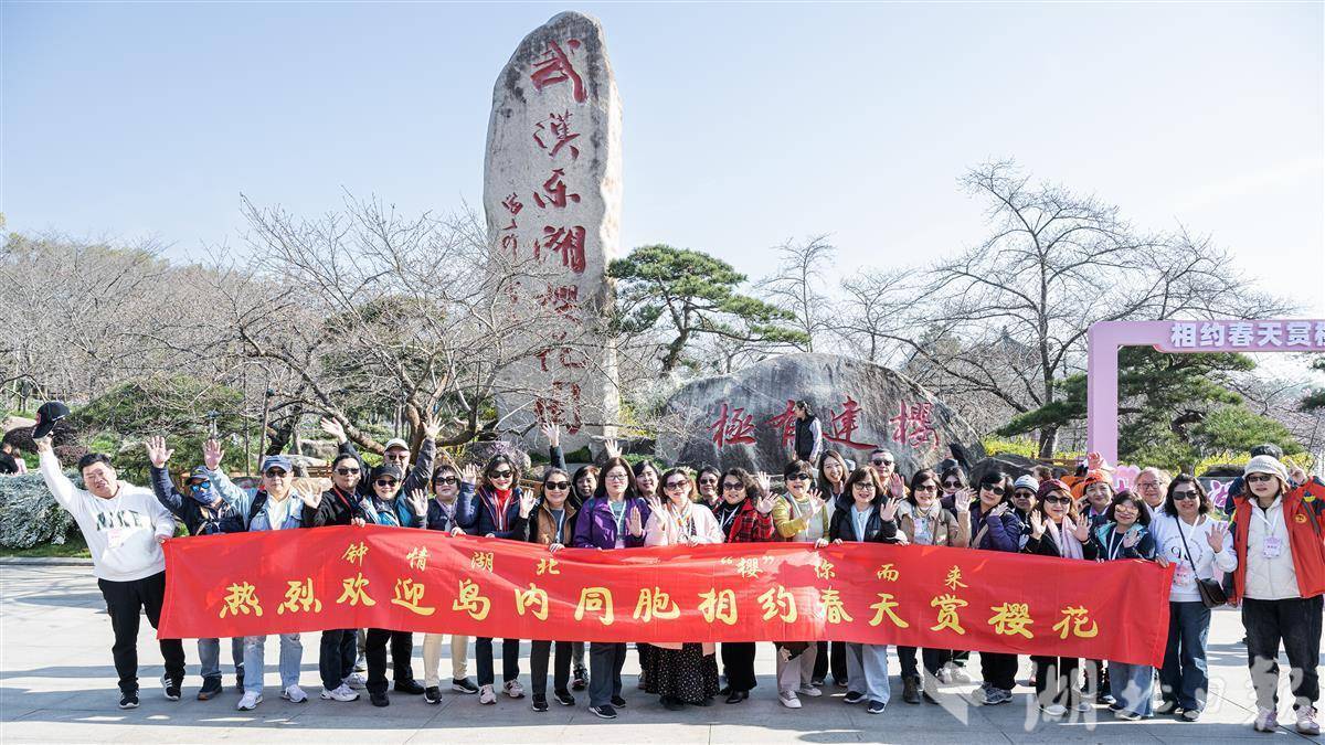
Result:
{"type": "Polygon", "coordinates": [[[620,240],[621,99],[595,19],[556,15],[497,77],[484,209],[494,256],[538,270],[511,300],[551,312],[547,327],[530,331],[529,358],[498,380],[502,430],[559,423],[567,452],[615,435],[616,353],[599,329],[620,240]]]}

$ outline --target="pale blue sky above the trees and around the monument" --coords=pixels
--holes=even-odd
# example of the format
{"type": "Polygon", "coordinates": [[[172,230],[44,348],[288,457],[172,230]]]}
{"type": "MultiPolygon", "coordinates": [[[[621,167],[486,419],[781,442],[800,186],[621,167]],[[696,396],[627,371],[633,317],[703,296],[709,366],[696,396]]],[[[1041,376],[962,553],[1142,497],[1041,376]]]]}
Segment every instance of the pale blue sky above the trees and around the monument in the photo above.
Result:
{"type": "Polygon", "coordinates": [[[4,3],[0,209],[196,258],[241,192],[481,207],[493,81],[571,8],[624,99],[627,249],[758,276],[831,233],[841,272],[912,265],[979,241],[957,178],[1015,158],[1325,314],[1321,3],[4,3]]]}

